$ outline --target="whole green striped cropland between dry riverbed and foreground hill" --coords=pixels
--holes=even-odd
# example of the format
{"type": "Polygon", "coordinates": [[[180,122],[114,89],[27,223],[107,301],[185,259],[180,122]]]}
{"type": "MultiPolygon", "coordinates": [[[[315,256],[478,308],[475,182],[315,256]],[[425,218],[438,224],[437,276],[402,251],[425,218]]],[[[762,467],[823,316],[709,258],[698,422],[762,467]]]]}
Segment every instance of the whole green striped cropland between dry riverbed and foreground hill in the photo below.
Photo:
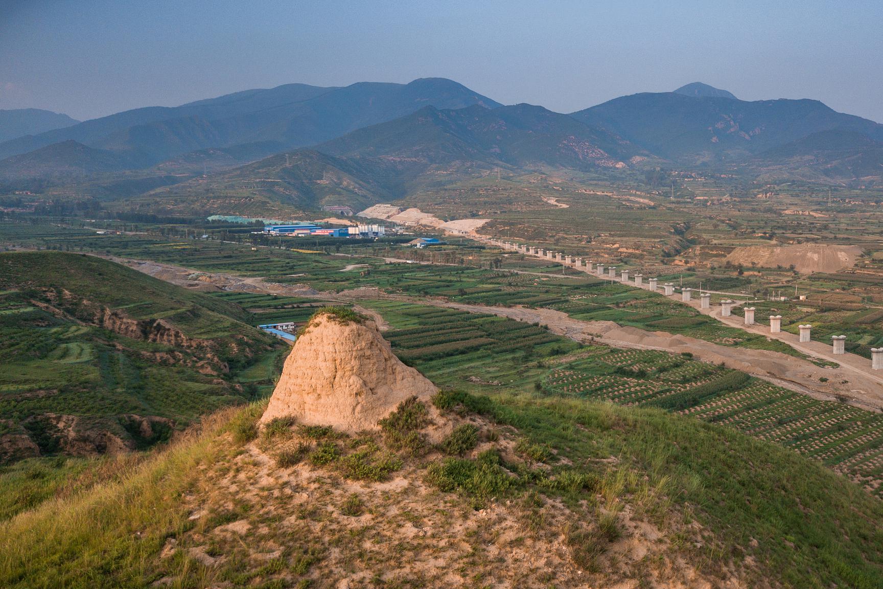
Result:
{"type": "Polygon", "coordinates": [[[401,359],[432,381],[493,394],[547,395],[657,407],[719,423],[818,460],[883,492],[883,416],[818,401],[735,370],[664,351],[582,346],[528,323],[410,303],[366,303],[393,326],[401,359]]]}

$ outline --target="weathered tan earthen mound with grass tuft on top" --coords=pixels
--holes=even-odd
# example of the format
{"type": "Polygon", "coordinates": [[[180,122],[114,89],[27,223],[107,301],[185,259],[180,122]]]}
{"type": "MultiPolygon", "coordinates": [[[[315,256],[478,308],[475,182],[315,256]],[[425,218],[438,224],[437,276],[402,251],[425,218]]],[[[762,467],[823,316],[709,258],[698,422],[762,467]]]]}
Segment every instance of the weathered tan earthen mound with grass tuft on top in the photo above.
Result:
{"type": "Polygon", "coordinates": [[[321,313],[291,349],[260,420],[293,416],[306,425],[353,433],[377,428],[406,398],[437,390],[396,358],[374,322],[321,313]]]}

